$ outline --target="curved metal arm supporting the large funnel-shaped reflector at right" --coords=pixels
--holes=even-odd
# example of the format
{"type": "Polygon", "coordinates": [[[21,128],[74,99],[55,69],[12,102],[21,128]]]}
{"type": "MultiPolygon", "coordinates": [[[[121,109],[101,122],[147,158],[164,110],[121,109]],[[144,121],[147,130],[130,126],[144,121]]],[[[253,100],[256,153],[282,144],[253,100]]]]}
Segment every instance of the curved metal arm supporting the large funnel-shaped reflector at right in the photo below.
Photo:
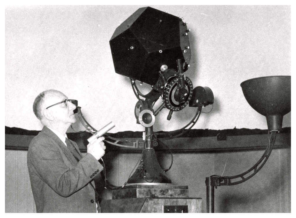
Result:
{"type": "Polygon", "coordinates": [[[269,144],[267,145],[267,148],[266,148],[265,152],[263,153],[263,155],[259,159],[259,161],[257,161],[257,163],[254,166],[252,166],[249,170],[247,170],[244,173],[241,173],[239,175],[236,175],[236,176],[225,176],[225,177],[218,176],[218,175],[210,176],[211,186],[217,187],[217,186],[221,186],[221,185],[237,185],[237,184],[245,182],[248,179],[250,179],[251,177],[253,177],[256,173],[258,173],[258,171],[266,163],[269,155],[271,154],[272,148],[274,147],[275,139],[276,139],[276,132],[271,132],[271,137],[269,139],[269,144]],[[245,177],[251,171],[253,171],[252,174],[245,177]],[[237,178],[240,178],[241,180],[239,180],[237,182],[231,182],[231,179],[237,179],[237,178]]]}

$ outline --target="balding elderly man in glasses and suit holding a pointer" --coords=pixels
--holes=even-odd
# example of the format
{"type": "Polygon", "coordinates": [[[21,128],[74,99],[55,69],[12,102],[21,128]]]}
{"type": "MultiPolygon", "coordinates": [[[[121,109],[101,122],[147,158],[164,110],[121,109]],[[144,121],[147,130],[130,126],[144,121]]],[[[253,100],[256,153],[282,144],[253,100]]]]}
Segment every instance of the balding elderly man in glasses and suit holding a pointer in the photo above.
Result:
{"type": "Polygon", "coordinates": [[[76,106],[62,92],[47,90],[33,104],[44,125],[28,149],[28,170],[37,212],[95,213],[97,193],[93,177],[102,171],[98,160],[104,155],[104,137],[87,145],[82,156],[66,131],[76,118],[76,106]]]}

